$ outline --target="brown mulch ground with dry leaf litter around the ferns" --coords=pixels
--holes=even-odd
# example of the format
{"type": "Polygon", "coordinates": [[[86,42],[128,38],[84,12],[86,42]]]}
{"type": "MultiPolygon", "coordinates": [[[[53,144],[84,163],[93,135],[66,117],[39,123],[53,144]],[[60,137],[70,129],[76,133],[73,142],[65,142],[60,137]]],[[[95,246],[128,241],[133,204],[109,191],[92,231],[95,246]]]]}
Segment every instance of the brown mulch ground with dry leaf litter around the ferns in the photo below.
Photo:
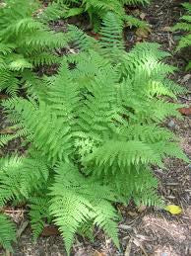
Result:
{"type": "MultiPolygon", "coordinates": [[[[171,33],[172,27],[178,21],[182,8],[179,0],[154,0],[149,7],[132,9],[143,20],[151,25],[151,31],[125,31],[127,48],[136,42],[160,43],[162,49],[174,51],[179,39],[178,33],[171,33]]],[[[77,20],[71,22],[76,23],[77,20]]],[[[76,23],[87,29],[86,20],[76,23]]],[[[64,30],[64,22],[54,25],[56,30],[64,30]]],[[[168,62],[177,66],[179,71],[172,77],[176,82],[186,86],[191,91],[191,74],[185,72],[186,54],[176,53],[168,58],[168,62]]],[[[191,106],[191,95],[187,94],[178,99],[178,102],[191,106]]],[[[190,113],[191,114],[191,113],[190,113]]],[[[181,121],[170,119],[165,124],[179,137],[182,148],[191,157],[191,119],[183,116],[181,121]]],[[[16,145],[13,145],[13,147],[16,145]]],[[[12,149],[13,149],[12,147],[12,149]]],[[[12,151],[12,149],[10,149],[12,151]]],[[[166,159],[166,169],[154,169],[159,178],[159,194],[167,204],[182,208],[182,213],[172,215],[156,208],[134,205],[127,208],[119,207],[123,220],[119,223],[119,237],[121,252],[117,251],[111,240],[101,231],[96,230],[95,241],[91,242],[78,237],[73,246],[72,256],[184,256],[191,255],[191,165],[180,160],[166,159]]],[[[43,236],[36,243],[32,242],[32,233],[25,217],[25,210],[10,211],[18,221],[18,244],[13,256],[65,256],[62,238],[52,227],[44,230],[43,236]],[[51,232],[54,235],[48,235],[51,232]]]]}

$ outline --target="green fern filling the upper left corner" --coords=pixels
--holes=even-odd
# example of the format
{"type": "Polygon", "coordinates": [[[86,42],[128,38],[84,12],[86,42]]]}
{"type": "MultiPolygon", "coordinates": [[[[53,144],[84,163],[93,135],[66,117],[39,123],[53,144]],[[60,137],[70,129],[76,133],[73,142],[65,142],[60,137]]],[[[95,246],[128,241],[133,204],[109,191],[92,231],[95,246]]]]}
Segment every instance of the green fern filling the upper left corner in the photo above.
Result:
{"type": "Polygon", "coordinates": [[[30,0],[5,0],[0,6],[0,91],[16,95],[32,83],[30,71],[58,63],[54,49],[66,45],[63,34],[53,33],[37,18],[38,5],[30,0]]]}

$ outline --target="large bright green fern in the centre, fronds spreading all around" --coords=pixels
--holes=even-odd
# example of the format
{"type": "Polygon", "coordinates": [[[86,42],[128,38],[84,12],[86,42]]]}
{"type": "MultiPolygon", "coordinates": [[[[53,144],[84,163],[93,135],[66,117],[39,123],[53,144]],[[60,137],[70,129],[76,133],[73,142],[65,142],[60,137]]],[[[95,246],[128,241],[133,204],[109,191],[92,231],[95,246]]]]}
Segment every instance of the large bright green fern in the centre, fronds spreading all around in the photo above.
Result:
{"type": "Polygon", "coordinates": [[[62,59],[57,75],[38,78],[40,93],[2,103],[16,135],[29,148],[0,161],[0,206],[26,202],[34,237],[54,221],[69,254],[75,233],[98,226],[119,248],[114,203],[162,207],[152,166],[166,156],[187,161],[172,132],[160,123],[180,117],[184,90],[166,76],[174,68],[157,43],[122,43],[122,22],[107,13],[99,42],[70,27],[79,53],[62,59]]]}

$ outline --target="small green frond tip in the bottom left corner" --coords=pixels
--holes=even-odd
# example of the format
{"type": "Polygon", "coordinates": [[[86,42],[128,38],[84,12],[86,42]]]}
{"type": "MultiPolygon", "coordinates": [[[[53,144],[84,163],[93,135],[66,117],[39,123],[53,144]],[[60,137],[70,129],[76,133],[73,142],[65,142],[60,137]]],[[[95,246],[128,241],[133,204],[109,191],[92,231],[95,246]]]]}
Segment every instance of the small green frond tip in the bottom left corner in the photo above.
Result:
{"type": "Polygon", "coordinates": [[[0,244],[12,251],[11,243],[16,240],[15,225],[5,214],[0,213],[0,226],[0,244]]]}

